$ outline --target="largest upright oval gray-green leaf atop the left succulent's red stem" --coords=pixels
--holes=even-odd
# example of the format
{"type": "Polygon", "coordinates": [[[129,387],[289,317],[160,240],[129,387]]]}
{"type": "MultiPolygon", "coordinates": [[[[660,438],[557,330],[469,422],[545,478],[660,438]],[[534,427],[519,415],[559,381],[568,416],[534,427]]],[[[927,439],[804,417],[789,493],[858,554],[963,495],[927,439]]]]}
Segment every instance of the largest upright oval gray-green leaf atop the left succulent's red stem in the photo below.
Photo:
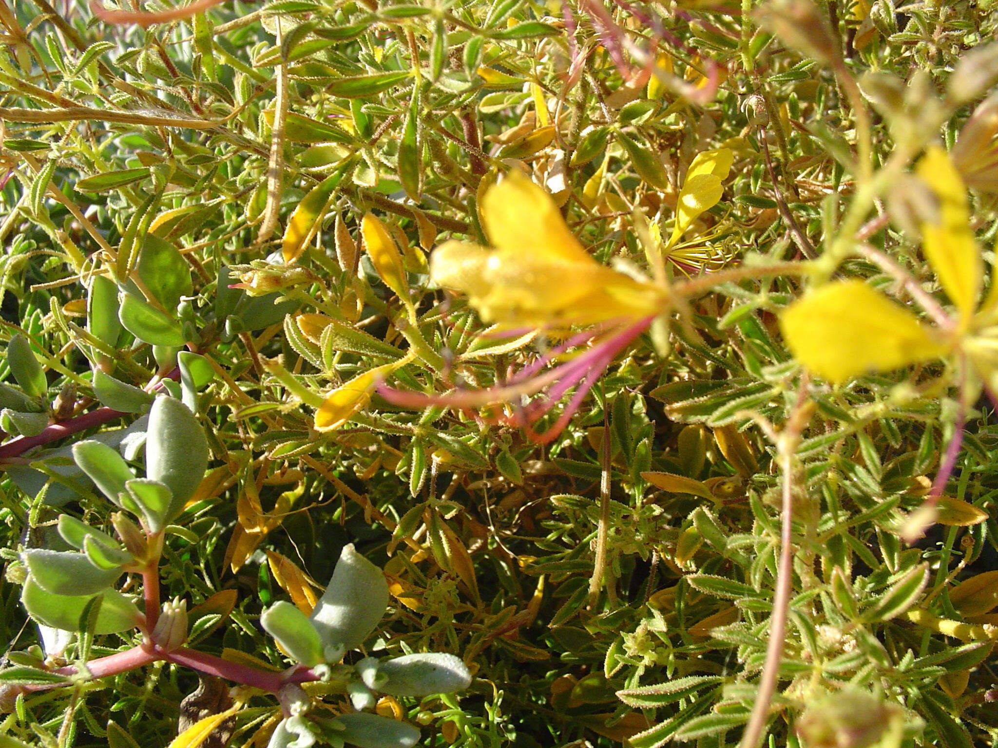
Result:
{"type": "Polygon", "coordinates": [[[149,412],[146,477],[173,492],[169,515],[176,517],[201,484],[208,468],[208,440],[194,413],[180,400],[161,396],[149,412]]]}

